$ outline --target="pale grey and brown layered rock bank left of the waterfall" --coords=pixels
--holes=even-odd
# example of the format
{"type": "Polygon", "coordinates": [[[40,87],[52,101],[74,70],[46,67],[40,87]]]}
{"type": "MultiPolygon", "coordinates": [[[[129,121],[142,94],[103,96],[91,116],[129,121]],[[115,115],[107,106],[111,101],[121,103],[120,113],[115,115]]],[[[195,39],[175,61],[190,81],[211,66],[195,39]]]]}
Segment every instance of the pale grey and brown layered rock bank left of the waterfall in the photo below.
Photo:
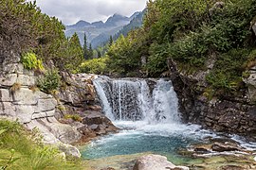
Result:
{"type": "Polygon", "coordinates": [[[36,88],[38,78],[11,54],[0,65],[0,117],[17,120],[37,129],[46,144],[57,144],[67,155],[81,157],[71,144],[82,144],[118,130],[101,113],[92,84],[94,76],[63,73],[59,92],[48,94],[36,88]]]}

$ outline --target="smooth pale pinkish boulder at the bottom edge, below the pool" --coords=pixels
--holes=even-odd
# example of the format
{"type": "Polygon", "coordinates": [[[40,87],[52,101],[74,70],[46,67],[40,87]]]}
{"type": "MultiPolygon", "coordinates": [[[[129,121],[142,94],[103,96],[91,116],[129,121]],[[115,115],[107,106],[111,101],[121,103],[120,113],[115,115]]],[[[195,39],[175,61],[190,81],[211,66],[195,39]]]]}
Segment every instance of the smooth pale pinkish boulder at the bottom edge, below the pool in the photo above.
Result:
{"type": "Polygon", "coordinates": [[[171,161],[161,155],[146,155],[137,159],[133,170],[189,170],[186,166],[175,166],[171,161]]]}

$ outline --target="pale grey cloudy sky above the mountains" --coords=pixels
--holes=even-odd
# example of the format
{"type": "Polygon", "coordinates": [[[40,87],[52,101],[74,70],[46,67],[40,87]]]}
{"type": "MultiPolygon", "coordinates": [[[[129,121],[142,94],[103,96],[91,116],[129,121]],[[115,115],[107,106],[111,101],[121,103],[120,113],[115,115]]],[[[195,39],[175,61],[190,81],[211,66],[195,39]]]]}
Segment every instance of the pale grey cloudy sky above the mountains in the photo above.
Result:
{"type": "Polygon", "coordinates": [[[147,0],[37,0],[43,12],[58,17],[64,25],[73,25],[79,20],[105,21],[119,13],[131,16],[146,7],[147,0]]]}

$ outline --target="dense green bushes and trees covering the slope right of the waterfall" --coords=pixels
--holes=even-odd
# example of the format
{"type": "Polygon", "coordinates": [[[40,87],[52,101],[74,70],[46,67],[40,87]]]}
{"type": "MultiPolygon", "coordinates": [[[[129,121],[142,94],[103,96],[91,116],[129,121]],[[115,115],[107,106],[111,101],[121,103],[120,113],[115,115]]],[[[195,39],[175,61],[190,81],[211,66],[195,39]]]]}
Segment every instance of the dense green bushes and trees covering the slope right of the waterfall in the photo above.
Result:
{"type": "Polygon", "coordinates": [[[165,76],[168,62],[192,75],[214,65],[210,87],[237,90],[256,64],[251,23],[255,0],[155,0],[147,4],[143,26],[110,46],[105,73],[117,76],[165,76]]]}

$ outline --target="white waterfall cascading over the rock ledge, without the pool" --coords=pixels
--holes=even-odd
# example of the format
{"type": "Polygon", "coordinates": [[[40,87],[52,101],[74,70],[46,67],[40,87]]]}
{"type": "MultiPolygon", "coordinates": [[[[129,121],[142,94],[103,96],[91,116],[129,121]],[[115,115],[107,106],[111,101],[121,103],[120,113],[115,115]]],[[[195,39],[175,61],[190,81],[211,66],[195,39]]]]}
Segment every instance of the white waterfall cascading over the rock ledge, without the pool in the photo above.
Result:
{"type": "Polygon", "coordinates": [[[178,102],[170,80],[99,77],[94,85],[111,120],[178,123],[178,102]]]}

